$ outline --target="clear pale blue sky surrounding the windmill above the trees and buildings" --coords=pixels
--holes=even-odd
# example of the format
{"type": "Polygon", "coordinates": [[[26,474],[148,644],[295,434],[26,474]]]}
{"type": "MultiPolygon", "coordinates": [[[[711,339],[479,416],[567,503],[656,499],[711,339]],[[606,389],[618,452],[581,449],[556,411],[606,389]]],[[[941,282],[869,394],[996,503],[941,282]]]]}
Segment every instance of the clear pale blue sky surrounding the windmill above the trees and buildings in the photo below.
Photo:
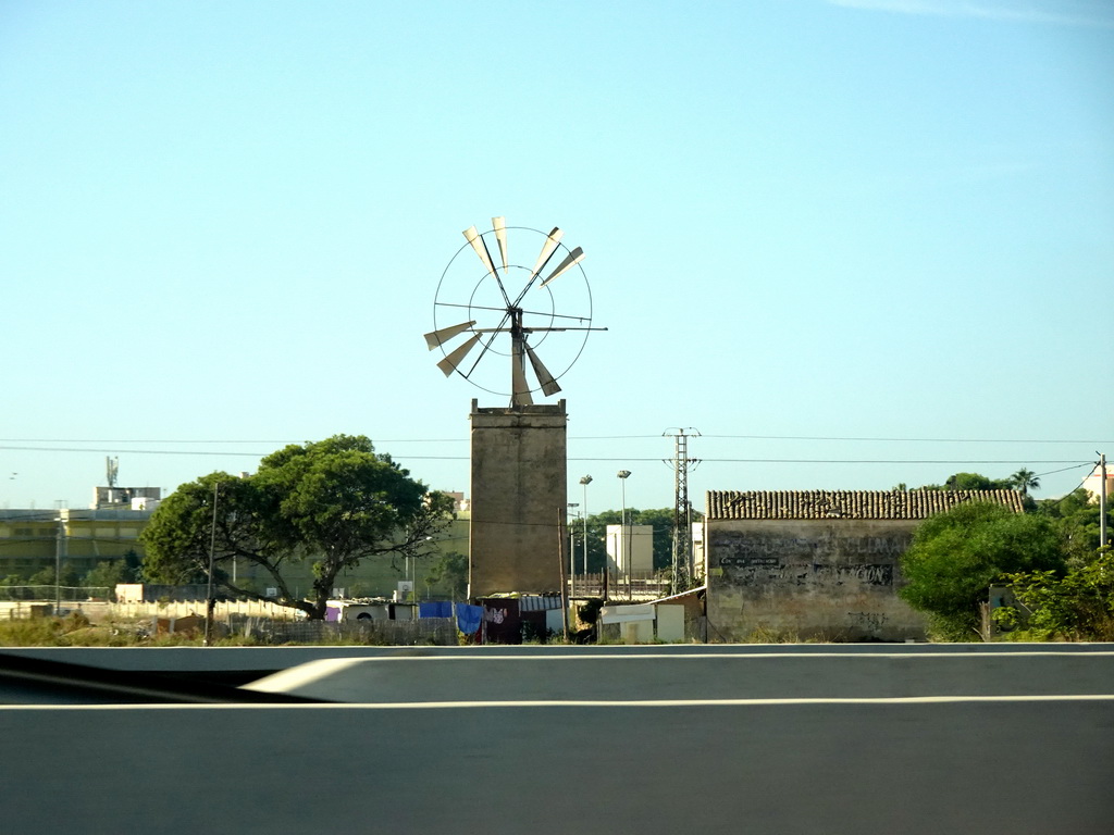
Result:
{"type": "Polygon", "coordinates": [[[583,246],[609,328],[570,501],[672,505],[690,426],[697,508],[1066,492],[1114,456],[1112,80],[1106,0],[7,0],[0,505],[339,432],[467,490],[505,401],[422,334],[495,215],[583,246]]]}

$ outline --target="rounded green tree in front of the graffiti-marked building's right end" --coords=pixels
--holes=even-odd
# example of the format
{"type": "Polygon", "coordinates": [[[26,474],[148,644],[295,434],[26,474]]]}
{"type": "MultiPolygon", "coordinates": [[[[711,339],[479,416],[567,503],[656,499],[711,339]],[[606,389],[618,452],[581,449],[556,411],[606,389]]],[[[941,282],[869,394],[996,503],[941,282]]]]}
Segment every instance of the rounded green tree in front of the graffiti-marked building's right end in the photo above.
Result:
{"type": "Polygon", "coordinates": [[[898,595],[929,615],[950,640],[979,633],[979,603],[1003,574],[1064,568],[1061,538],[1044,517],[1000,504],[969,502],[926,519],[901,556],[907,584],[898,595]]]}

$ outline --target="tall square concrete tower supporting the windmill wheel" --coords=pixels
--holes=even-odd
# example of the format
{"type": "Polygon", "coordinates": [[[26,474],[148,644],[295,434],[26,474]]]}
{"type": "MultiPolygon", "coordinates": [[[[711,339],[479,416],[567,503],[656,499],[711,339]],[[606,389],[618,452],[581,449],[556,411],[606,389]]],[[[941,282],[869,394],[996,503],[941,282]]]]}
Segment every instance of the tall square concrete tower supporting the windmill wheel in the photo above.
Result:
{"type": "Polygon", "coordinates": [[[564,400],[507,409],[472,401],[470,598],[561,590],[566,421],[564,400]]]}

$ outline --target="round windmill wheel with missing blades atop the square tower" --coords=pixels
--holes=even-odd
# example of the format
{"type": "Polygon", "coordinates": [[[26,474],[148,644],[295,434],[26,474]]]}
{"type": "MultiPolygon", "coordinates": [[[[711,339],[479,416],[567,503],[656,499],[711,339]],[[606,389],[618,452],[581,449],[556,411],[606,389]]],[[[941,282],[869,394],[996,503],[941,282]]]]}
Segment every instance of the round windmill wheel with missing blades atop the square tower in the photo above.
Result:
{"type": "Polygon", "coordinates": [[[492,394],[509,394],[511,406],[531,405],[531,395],[538,391],[553,396],[561,390],[557,381],[580,356],[588,333],[607,330],[592,327],[592,291],[580,266],[584,250],[561,244],[559,228],[546,235],[529,227],[509,227],[502,217],[491,218],[491,229],[485,233],[470,226],[463,236],[467,243],[441,274],[433,330],[426,334],[429,350],[441,348],[443,354],[438,367],[446,376],[457,373],[492,394]],[[538,256],[531,267],[514,262],[511,237],[516,252],[534,239],[538,256]],[[479,266],[467,255],[460,257],[469,248],[479,257],[479,266]],[[498,250],[498,264],[491,257],[494,250],[498,250]],[[553,334],[579,334],[579,338],[549,342],[547,365],[539,350],[553,334]],[[459,344],[451,347],[452,343],[459,344]],[[499,355],[510,360],[509,391],[506,382],[499,382],[501,374],[491,369],[499,355]]]}

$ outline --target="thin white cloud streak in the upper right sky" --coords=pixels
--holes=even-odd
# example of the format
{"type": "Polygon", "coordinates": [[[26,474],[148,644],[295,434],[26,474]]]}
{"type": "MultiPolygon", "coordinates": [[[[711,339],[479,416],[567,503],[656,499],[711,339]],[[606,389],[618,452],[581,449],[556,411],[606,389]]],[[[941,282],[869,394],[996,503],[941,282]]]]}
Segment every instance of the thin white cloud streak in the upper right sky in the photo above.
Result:
{"type": "Polygon", "coordinates": [[[896,14],[977,18],[1019,23],[1114,28],[1110,0],[825,0],[831,6],[896,14]]]}

